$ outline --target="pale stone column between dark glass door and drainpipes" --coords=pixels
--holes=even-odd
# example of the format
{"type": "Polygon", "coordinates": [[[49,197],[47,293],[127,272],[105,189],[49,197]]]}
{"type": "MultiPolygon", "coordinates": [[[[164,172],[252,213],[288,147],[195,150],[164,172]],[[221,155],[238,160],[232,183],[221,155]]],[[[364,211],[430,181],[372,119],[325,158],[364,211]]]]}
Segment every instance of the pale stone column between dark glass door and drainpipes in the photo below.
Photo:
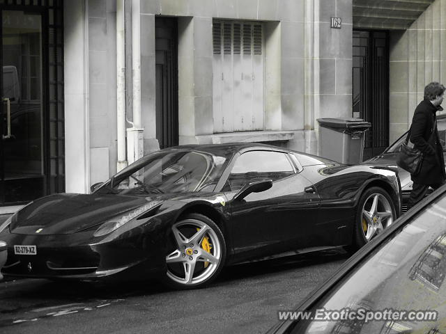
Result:
{"type": "Polygon", "coordinates": [[[66,192],[90,188],[89,22],[86,1],[63,6],[66,192]]]}

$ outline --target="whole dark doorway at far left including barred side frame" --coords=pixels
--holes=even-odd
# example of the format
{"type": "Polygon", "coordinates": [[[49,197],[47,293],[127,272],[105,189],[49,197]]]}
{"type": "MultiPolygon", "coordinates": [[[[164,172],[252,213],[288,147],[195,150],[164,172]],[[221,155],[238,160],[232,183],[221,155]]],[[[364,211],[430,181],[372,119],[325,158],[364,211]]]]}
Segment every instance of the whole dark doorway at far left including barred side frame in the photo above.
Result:
{"type": "Polygon", "coordinates": [[[63,3],[0,5],[0,205],[65,191],[63,3]]]}

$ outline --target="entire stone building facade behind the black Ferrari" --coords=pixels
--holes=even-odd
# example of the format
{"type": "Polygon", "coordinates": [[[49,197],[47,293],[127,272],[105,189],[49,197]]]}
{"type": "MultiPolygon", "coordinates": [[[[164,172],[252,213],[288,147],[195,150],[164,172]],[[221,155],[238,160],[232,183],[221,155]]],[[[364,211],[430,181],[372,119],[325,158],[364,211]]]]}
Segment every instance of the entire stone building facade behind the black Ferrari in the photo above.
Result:
{"type": "Polygon", "coordinates": [[[9,210],[88,193],[172,145],[317,154],[318,118],[371,122],[372,156],[446,74],[446,0],[3,0],[0,10],[9,210]]]}

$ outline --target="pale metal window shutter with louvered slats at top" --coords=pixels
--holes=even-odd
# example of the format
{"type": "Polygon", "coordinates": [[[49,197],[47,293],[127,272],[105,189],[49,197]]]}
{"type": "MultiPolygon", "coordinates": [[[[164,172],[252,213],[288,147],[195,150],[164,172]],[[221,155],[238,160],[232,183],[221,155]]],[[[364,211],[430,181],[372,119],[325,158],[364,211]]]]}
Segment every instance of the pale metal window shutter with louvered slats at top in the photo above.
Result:
{"type": "Polygon", "coordinates": [[[263,129],[263,26],[213,21],[214,132],[263,129]]]}

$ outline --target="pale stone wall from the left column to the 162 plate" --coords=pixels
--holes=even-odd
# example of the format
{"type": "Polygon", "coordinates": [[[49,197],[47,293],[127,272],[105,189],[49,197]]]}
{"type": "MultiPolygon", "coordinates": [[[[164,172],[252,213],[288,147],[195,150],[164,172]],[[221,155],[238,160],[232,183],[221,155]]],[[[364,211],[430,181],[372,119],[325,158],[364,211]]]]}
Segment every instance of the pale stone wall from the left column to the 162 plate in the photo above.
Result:
{"type": "MultiPolygon", "coordinates": [[[[255,20],[263,22],[265,36],[266,132],[247,138],[263,141],[263,134],[265,141],[286,138],[289,148],[317,153],[316,118],[351,116],[351,1],[141,0],[145,152],[159,148],[155,138],[157,15],[178,17],[180,143],[240,138],[212,138],[212,25],[213,19],[255,20]],[[342,18],[341,29],[330,29],[332,16],[342,18]]],[[[65,4],[67,191],[86,192],[90,184],[116,173],[116,1],[69,2],[65,4]],[[70,19],[70,13],[77,17],[70,19]]],[[[125,3],[130,6],[131,1],[125,3]]],[[[130,42],[127,38],[128,50],[130,42]]],[[[131,66],[126,65],[131,120],[131,66]]]]}

